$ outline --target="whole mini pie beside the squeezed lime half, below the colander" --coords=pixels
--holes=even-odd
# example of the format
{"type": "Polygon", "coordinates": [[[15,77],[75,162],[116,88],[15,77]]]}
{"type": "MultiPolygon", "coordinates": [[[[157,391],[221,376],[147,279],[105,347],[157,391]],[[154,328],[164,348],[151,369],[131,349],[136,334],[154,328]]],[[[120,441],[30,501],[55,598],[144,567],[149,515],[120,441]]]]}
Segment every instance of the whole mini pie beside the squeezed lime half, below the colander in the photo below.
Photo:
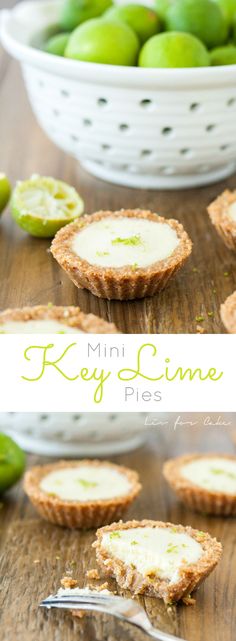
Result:
{"type": "Polygon", "coordinates": [[[150,211],[100,211],[67,225],[51,251],[77,287],[128,300],[152,296],[184,264],[192,243],[182,225],[150,211]]]}

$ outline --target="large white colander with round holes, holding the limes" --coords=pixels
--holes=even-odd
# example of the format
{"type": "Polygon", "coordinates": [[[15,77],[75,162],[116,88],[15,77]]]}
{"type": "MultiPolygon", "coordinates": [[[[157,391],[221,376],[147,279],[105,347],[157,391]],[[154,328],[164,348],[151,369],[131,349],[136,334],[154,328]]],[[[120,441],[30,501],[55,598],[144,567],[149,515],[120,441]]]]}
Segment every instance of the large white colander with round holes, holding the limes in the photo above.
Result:
{"type": "Polygon", "coordinates": [[[236,169],[236,65],[142,69],[39,51],[58,0],[2,12],[5,48],[22,64],[42,128],[94,175],[143,188],[211,183],[236,169]]]}

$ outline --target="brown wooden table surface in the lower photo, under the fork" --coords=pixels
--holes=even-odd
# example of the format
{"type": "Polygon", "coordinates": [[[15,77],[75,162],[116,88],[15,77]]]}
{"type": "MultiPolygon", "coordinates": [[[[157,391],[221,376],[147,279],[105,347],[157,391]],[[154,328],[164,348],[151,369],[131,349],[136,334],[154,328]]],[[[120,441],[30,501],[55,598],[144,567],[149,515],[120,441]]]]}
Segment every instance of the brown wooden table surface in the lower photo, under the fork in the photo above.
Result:
{"type": "MultiPolygon", "coordinates": [[[[194,417],[196,420],[196,416],[194,417]]],[[[154,625],[187,641],[234,641],[236,623],[235,519],[197,515],[178,503],[161,475],[163,460],[194,450],[234,452],[227,428],[170,426],[155,428],[147,445],[116,461],[138,470],[143,491],[128,518],[153,518],[208,530],[222,541],[222,561],[196,593],[191,607],[167,607],[159,599],[142,599],[154,625]]],[[[29,457],[29,465],[42,459],[29,457]]],[[[91,543],[94,532],[80,533],[42,521],[21,487],[4,498],[0,512],[0,630],[1,641],[145,641],[127,624],[105,615],[74,619],[70,614],[38,608],[70,574],[80,586],[88,568],[96,567],[91,543]]],[[[102,579],[101,579],[102,581],[102,579]]],[[[110,589],[116,589],[112,580],[110,589]]]]}

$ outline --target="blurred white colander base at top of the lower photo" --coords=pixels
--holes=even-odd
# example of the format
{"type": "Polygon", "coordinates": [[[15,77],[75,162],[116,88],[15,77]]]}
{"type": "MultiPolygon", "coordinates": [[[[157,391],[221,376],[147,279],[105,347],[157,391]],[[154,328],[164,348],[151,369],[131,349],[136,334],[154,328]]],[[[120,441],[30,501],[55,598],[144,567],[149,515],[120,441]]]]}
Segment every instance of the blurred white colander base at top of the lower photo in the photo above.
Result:
{"type": "Polygon", "coordinates": [[[139,447],[146,439],[142,413],[0,413],[0,432],[34,454],[110,456],[139,447]]]}

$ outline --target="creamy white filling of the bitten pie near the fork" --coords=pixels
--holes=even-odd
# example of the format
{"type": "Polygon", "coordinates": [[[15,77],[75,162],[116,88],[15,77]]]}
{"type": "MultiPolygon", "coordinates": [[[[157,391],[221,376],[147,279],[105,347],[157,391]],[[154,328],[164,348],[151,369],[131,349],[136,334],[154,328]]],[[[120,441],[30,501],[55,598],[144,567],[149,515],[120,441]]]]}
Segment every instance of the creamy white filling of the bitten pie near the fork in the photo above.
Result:
{"type": "Polygon", "coordinates": [[[142,576],[179,580],[183,564],[196,563],[202,556],[201,545],[191,536],[173,528],[138,527],[115,530],[102,537],[102,547],[135,568],[142,576]]]}

